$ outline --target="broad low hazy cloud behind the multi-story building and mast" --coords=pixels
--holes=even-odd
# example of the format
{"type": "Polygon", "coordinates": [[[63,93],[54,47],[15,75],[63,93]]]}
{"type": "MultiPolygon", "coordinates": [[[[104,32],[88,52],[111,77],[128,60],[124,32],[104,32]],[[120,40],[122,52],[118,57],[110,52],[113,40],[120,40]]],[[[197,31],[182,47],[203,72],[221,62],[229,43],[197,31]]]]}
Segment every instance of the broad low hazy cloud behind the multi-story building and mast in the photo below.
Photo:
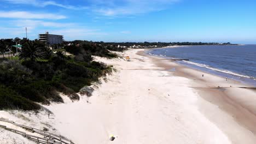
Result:
{"type": "Polygon", "coordinates": [[[92,37],[103,37],[107,35],[101,29],[85,27],[81,23],[52,22],[45,20],[7,20],[0,21],[0,38],[26,37],[25,27],[27,27],[28,38],[37,39],[39,33],[48,31],[52,34],[64,35],[65,40],[90,39],[92,37]],[[7,24],[9,23],[9,24],[7,24]]]}

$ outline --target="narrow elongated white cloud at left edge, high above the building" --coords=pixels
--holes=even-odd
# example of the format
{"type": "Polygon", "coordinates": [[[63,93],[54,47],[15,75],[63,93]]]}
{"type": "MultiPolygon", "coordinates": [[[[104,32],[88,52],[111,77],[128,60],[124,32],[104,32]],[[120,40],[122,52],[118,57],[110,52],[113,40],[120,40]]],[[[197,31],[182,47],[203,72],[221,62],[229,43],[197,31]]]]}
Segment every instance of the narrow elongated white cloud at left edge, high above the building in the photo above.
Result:
{"type": "Polygon", "coordinates": [[[13,19],[66,19],[66,16],[49,13],[30,13],[27,11],[0,11],[0,17],[13,19]]]}

